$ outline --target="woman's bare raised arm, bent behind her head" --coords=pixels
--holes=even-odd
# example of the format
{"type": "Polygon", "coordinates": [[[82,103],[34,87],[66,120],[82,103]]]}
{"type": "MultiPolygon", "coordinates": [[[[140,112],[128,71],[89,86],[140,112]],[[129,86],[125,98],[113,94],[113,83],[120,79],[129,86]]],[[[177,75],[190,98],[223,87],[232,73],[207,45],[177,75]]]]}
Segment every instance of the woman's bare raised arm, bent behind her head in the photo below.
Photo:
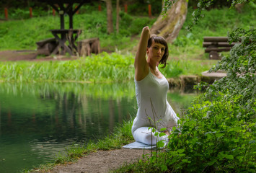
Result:
{"type": "Polygon", "coordinates": [[[149,65],[146,62],[146,50],[149,35],[149,27],[144,27],[141,32],[141,39],[138,43],[138,50],[134,61],[136,81],[141,81],[147,74],[149,74],[149,65]]]}

